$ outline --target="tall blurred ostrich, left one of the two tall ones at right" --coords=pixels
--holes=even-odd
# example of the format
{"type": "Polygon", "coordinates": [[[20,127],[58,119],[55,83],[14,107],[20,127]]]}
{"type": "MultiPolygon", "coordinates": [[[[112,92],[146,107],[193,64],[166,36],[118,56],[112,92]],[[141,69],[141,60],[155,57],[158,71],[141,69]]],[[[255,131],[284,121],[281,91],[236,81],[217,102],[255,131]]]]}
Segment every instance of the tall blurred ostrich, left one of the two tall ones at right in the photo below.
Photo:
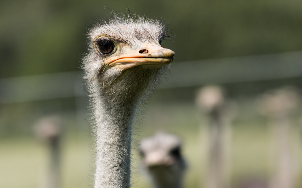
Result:
{"type": "Polygon", "coordinates": [[[230,121],[232,109],[226,105],[222,88],[205,86],[196,97],[197,106],[209,119],[209,156],[206,187],[227,188],[230,184],[230,121]]]}

